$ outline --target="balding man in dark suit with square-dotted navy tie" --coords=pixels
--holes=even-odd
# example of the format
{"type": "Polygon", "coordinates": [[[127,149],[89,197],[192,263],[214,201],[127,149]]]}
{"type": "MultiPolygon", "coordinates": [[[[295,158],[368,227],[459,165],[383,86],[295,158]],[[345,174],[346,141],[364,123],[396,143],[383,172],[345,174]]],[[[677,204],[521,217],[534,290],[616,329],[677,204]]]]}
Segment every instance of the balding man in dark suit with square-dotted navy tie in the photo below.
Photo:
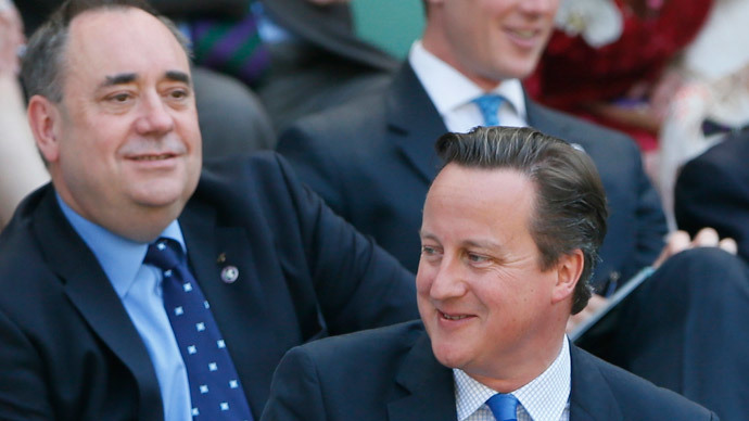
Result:
{"type": "Polygon", "coordinates": [[[218,419],[203,394],[257,419],[290,347],[418,317],[412,276],[276,155],[201,174],[188,55],[144,8],[66,2],[29,41],[52,183],[0,237],[0,419],[218,419]]]}

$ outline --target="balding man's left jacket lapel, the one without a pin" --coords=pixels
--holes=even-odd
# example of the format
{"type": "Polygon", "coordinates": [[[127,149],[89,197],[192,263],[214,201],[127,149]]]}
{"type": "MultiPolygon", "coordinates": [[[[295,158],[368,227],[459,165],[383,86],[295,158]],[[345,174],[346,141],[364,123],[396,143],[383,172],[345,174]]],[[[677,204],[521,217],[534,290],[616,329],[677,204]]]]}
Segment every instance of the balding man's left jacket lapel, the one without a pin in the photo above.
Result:
{"type": "Polygon", "coordinates": [[[96,256],[62,214],[52,188],[39,206],[35,234],[73,305],[138,382],[140,418],[161,417],[161,391],[148,350],[96,256]]]}

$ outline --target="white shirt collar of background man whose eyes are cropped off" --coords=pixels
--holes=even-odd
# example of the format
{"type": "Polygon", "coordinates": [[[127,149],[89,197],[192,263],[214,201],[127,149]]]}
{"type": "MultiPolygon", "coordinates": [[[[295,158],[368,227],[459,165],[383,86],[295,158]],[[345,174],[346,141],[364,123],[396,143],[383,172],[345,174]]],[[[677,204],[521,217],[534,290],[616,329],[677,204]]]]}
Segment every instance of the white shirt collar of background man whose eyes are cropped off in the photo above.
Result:
{"type": "Polygon", "coordinates": [[[484,93],[498,93],[512,105],[520,118],[528,120],[525,95],[519,79],[505,79],[491,92],[484,92],[462,73],[427,51],[420,40],[411,46],[408,61],[441,116],[484,93]]]}

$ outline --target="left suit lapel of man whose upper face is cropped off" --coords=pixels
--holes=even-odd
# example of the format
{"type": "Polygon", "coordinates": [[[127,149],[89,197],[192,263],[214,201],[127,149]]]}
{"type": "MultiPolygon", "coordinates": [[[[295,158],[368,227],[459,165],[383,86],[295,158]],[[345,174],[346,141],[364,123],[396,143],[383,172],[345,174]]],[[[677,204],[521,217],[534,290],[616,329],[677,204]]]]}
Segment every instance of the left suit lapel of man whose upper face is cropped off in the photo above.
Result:
{"type": "Polygon", "coordinates": [[[431,183],[440,167],[434,142],[447,128],[408,62],[393,79],[386,101],[388,136],[431,183]]]}

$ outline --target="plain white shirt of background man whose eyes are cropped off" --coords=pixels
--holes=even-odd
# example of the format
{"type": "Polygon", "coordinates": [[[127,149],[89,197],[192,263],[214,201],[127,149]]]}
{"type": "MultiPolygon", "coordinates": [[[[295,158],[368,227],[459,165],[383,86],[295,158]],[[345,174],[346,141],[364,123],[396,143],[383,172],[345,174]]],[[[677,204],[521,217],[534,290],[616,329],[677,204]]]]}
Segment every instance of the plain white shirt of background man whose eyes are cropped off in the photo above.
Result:
{"type": "Polygon", "coordinates": [[[485,92],[460,72],[427,51],[421,41],[416,41],[411,46],[408,62],[447,130],[467,132],[475,126],[483,125],[484,117],[472,101],[485,93],[497,93],[506,99],[498,112],[502,126],[528,126],[525,97],[520,80],[503,80],[491,92],[485,92]]]}

